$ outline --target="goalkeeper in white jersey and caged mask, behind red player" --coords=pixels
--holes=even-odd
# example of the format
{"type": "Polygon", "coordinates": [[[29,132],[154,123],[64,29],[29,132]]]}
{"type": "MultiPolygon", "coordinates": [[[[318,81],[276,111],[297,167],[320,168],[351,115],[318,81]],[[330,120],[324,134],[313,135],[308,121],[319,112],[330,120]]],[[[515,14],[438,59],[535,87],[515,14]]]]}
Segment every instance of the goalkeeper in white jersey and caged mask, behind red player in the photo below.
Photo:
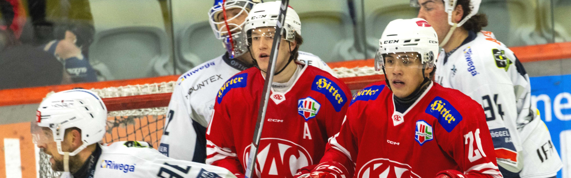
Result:
{"type": "MultiPolygon", "coordinates": [[[[159,151],[164,155],[198,163],[206,161],[206,127],[210,122],[216,92],[231,76],[254,66],[241,33],[250,9],[260,2],[215,0],[208,16],[215,37],[222,40],[227,52],[192,68],[176,82],[160,139],[159,151]]],[[[297,53],[297,59],[301,62],[333,74],[319,57],[303,51],[297,53]]],[[[283,68],[276,68],[278,72],[281,70],[283,68]]],[[[283,87],[274,85],[274,88],[283,87]]]]}

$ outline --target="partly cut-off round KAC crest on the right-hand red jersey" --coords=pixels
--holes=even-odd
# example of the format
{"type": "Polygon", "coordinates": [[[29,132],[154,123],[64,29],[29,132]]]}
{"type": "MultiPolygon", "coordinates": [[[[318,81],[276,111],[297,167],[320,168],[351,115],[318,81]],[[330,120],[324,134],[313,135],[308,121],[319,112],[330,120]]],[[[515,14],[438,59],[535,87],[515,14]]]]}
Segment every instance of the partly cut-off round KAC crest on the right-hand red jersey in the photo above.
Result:
{"type": "Polygon", "coordinates": [[[420,178],[419,175],[412,172],[412,167],[408,164],[399,163],[397,161],[377,158],[368,161],[359,169],[357,178],[369,177],[382,177],[382,178],[397,178],[397,177],[410,177],[420,178]]]}

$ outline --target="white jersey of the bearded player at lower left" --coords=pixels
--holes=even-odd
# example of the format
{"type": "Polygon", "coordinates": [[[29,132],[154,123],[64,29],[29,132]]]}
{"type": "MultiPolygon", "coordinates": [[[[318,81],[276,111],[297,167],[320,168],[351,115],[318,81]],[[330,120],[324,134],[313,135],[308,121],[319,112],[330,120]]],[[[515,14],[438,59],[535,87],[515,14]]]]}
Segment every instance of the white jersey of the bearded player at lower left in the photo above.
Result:
{"type": "Polygon", "coordinates": [[[98,145],[82,169],[74,173],[74,177],[232,178],[236,176],[222,167],[164,156],[149,147],[146,142],[118,141],[98,145]]]}

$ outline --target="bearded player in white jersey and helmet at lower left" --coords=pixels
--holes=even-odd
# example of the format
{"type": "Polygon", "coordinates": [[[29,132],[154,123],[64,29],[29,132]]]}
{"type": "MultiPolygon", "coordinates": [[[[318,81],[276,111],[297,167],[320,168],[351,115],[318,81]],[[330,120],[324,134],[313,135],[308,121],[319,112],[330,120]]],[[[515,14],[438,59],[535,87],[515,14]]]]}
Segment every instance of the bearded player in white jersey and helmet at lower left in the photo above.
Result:
{"type": "Polygon", "coordinates": [[[43,100],[31,132],[62,177],[236,177],[221,167],[164,156],[146,142],[100,144],[106,121],[107,108],[97,94],[67,90],[43,100]]]}

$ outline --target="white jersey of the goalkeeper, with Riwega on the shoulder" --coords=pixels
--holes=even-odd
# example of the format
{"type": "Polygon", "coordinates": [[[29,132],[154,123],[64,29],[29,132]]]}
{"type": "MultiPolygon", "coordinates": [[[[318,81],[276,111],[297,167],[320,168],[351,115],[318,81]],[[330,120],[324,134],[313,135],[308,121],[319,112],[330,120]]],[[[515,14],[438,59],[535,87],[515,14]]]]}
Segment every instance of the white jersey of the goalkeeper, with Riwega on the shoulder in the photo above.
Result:
{"type": "MultiPolygon", "coordinates": [[[[297,60],[333,75],[323,60],[309,52],[299,51],[297,60]]],[[[181,75],[168,104],[167,122],[164,124],[159,151],[174,159],[204,163],[204,134],[211,119],[216,92],[226,80],[250,67],[253,66],[230,59],[224,54],[181,75]]]]}

